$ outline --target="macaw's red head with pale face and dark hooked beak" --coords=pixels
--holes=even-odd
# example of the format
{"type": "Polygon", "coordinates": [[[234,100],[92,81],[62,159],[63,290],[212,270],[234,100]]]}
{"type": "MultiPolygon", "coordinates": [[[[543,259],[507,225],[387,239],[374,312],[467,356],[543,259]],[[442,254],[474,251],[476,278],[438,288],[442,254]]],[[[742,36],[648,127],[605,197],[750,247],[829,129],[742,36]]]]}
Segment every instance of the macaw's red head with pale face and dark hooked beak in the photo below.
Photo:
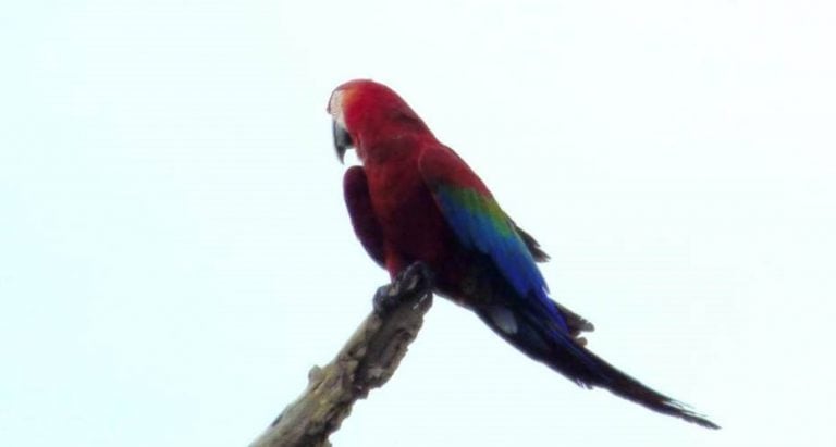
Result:
{"type": "Polygon", "coordinates": [[[430,134],[427,125],[394,90],[370,79],[349,80],[334,89],[328,101],[333,119],[334,148],[340,161],[349,148],[366,160],[386,140],[413,133],[430,134]]]}

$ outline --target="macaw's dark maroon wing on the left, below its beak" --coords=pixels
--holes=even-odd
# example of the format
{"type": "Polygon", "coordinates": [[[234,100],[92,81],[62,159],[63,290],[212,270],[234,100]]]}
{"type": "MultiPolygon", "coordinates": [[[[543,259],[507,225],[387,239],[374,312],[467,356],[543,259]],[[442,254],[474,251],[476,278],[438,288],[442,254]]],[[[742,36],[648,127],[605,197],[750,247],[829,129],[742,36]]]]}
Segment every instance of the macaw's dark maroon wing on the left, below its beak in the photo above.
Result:
{"type": "Polygon", "coordinates": [[[354,233],[371,259],[384,266],[383,232],[374,210],[371,208],[369,184],[366,179],[366,171],[361,166],[352,166],[345,172],[343,194],[345,204],[348,208],[348,215],[352,218],[354,233]]]}

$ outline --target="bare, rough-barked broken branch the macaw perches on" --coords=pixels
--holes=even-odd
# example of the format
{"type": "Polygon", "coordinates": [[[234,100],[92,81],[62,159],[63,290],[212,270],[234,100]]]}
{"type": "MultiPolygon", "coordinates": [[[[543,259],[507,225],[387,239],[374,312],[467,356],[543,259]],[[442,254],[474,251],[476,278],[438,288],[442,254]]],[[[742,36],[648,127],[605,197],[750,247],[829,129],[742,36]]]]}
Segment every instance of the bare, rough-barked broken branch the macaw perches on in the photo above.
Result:
{"type": "Polygon", "coordinates": [[[378,289],[374,310],[334,360],[308,373],[308,387],[250,447],[330,446],[357,399],[395,373],[432,306],[431,274],[414,264],[378,289]]]}

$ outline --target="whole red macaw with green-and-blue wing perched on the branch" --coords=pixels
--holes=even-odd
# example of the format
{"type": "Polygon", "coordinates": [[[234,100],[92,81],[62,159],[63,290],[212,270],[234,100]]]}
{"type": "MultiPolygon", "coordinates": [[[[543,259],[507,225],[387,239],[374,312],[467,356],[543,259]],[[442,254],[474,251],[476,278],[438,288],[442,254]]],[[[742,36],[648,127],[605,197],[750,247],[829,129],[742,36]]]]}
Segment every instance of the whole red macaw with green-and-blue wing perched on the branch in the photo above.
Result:
{"type": "Polygon", "coordinates": [[[346,171],[343,183],[354,231],[391,277],[422,262],[438,294],[578,385],[718,429],[586,348],[577,335],[591,324],[549,297],[536,264],[548,256],[397,94],[372,80],[351,80],[333,91],[328,112],[340,160],[355,148],[362,162],[346,171]]]}

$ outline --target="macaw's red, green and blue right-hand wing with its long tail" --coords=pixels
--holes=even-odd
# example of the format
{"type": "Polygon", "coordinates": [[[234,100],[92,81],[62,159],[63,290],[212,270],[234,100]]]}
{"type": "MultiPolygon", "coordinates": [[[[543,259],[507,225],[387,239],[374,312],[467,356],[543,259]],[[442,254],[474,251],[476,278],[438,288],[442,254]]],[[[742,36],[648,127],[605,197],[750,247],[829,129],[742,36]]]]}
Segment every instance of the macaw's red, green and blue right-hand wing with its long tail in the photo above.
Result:
{"type": "Polygon", "coordinates": [[[514,291],[500,302],[475,303],[474,310],[491,328],[522,352],[579,385],[600,386],[651,410],[717,427],[684,403],[617,370],[574,339],[575,331],[567,327],[566,313],[549,298],[526,237],[455,152],[443,147],[431,148],[421,156],[419,165],[458,243],[465,249],[485,254],[514,291]]]}

